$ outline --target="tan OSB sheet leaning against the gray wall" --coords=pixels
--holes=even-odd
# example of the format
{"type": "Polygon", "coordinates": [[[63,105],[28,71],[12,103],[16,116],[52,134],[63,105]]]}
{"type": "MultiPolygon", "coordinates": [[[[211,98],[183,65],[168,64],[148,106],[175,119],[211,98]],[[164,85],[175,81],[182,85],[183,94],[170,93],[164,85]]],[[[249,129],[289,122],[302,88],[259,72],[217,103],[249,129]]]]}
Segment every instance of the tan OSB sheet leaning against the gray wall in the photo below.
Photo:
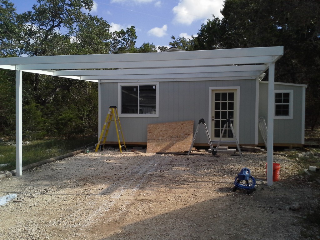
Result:
{"type": "Polygon", "coordinates": [[[193,122],[148,124],[147,153],[189,151],[193,122]]]}

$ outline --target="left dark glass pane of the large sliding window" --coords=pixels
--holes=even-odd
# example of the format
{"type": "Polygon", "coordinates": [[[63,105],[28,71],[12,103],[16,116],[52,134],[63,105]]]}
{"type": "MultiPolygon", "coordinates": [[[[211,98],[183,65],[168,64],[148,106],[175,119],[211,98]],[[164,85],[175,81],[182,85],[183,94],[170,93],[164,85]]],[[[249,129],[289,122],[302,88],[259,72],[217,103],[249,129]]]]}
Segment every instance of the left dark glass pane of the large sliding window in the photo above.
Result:
{"type": "Polygon", "coordinates": [[[138,113],[138,86],[121,86],[121,113],[138,113]]]}

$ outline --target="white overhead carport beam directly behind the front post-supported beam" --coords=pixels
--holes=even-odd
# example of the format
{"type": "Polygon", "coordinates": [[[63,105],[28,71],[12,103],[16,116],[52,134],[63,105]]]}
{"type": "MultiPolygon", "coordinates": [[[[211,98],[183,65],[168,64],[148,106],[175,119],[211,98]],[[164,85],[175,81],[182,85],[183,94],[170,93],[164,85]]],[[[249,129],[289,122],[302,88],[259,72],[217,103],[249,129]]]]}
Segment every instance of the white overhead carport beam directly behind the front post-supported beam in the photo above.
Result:
{"type": "Polygon", "coordinates": [[[135,75],[135,74],[182,74],[182,73],[213,73],[213,72],[241,72],[264,71],[266,65],[242,65],[195,68],[148,68],[148,69],[110,69],[110,70],[61,70],[55,71],[54,76],[101,76],[101,75],[135,75]]]}

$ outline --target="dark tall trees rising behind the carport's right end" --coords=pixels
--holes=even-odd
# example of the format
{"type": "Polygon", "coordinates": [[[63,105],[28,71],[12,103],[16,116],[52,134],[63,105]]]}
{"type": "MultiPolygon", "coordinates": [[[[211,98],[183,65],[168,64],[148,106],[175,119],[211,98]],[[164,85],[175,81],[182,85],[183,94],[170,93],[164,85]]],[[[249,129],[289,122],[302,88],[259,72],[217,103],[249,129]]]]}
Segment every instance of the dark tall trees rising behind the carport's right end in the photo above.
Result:
{"type": "Polygon", "coordinates": [[[320,2],[225,0],[221,13],[221,20],[213,16],[201,26],[195,49],[284,46],[276,79],[309,84],[306,124],[319,124],[320,2]]]}

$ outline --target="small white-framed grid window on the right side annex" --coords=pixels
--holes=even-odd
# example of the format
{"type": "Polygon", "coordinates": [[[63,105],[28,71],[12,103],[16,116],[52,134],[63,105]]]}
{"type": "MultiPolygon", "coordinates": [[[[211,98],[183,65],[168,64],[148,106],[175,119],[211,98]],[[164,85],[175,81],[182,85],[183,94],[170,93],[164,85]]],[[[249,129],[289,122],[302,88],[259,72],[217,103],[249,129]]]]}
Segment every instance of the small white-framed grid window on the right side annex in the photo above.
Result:
{"type": "Polygon", "coordinates": [[[275,90],[276,119],[293,118],[293,90],[275,90]]]}

